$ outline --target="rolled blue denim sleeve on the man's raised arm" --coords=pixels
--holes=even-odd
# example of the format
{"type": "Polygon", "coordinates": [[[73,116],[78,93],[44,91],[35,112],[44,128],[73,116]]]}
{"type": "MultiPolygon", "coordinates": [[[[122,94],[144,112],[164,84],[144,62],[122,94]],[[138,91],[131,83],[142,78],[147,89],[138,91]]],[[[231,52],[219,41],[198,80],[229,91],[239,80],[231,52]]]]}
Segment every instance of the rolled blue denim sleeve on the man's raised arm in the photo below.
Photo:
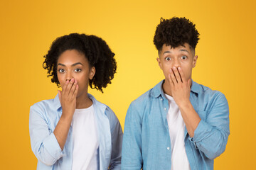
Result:
{"type": "Polygon", "coordinates": [[[215,159],[225,151],[230,134],[228,101],[225,96],[221,93],[216,96],[210,111],[204,111],[203,114],[206,115],[206,120],[200,121],[193,138],[189,137],[189,140],[206,157],[215,159]]]}

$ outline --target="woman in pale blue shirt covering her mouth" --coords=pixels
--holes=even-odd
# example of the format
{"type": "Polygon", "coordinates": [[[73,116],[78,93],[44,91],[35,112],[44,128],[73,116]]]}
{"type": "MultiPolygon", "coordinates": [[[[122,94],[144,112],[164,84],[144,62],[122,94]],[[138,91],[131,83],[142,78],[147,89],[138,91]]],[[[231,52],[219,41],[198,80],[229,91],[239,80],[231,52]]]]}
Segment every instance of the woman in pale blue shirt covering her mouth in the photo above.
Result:
{"type": "Polygon", "coordinates": [[[114,77],[117,64],[110,47],[95,35],[73,33],[57,38],[44,57],[43,68],[62,91],[31,106],[37,169],[120,169],[119,120],[87,94],[89,85],[102,91],[114,77]]]}

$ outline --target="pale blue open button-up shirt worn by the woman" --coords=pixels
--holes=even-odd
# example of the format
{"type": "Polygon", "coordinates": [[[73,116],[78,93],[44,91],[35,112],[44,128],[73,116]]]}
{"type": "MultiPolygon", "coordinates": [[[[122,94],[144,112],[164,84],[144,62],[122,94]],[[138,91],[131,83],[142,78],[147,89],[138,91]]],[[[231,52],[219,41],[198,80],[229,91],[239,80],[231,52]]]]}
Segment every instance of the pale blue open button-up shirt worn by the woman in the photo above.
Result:
{"type": "MultiPolygon", "coordinates": [[[[122,152],[122,128],[114,112],[92,95],[100,142],[100,170],[120,169],[122,152]]],[[[58,95],[54,99],[41,101],[31,106],[29,132],[31,147],[38,159],[37,169],[71,170],[73,160],[72,125],[63,150],[60,149],[53,131],[60,120],[62,108],[58,95]]]]}

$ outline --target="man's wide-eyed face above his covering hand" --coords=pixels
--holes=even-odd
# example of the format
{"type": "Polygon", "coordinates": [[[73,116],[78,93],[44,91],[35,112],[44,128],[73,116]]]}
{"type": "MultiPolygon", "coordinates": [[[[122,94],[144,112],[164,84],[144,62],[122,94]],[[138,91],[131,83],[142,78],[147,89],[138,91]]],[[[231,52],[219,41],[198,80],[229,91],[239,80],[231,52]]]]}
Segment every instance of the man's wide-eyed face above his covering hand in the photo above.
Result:
{"type": "Polygon", "coordinates": [[[196,66],[197,58],[198,56],[194,55],[194,51],[188,43],[175,48],[164,44],[162,50],[159,51],[159,58],[156,60],[159,63],[159,67],[164,72],[166,81],[169,81],[170,70],[174,67],[177,69],[181,67],[185,81],[188,81],[188,79],[191,79],[192,69],[196,66]]]}

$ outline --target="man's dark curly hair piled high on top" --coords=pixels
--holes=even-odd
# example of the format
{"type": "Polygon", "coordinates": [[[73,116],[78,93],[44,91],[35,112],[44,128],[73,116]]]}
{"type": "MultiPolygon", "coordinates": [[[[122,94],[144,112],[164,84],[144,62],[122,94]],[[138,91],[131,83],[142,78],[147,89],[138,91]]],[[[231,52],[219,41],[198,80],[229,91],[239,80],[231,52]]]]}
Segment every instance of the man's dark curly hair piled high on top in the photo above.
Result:
{"type": "Polygon", "coordinates": [[[185,17],[161,18],[154,35],[156,49],[161,51],[164,44],[175,48],[187,42],[195,50],[199,40],[199,33],[195,26],[185,17]]]}

